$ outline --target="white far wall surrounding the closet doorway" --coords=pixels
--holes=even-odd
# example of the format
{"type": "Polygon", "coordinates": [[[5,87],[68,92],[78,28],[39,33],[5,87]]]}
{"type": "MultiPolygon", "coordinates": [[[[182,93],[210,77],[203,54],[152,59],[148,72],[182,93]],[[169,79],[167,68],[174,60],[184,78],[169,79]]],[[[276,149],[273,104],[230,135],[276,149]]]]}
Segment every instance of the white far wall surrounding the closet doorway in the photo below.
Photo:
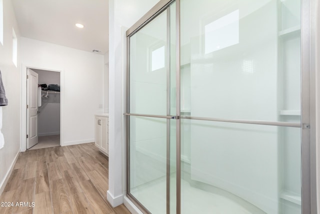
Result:
{"type": "Polygon", "coordinates": [[[103,55],[21,37],[21,62],[22,72],[61,71],[61,145],[93,142],[94,113],[103,113],[103,55]]]}

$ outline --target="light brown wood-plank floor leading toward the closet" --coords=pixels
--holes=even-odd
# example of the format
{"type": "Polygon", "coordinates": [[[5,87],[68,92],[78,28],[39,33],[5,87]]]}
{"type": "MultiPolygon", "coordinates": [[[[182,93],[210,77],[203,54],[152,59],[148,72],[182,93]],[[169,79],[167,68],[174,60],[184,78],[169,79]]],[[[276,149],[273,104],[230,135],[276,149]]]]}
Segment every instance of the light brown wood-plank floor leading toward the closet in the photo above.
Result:
{"type": "Polygon", "coordinates": [[[94,143],[28,150],[4,187],[0,213],[130,213],[107,202],[107,189],[108,159],[94,143]]]}

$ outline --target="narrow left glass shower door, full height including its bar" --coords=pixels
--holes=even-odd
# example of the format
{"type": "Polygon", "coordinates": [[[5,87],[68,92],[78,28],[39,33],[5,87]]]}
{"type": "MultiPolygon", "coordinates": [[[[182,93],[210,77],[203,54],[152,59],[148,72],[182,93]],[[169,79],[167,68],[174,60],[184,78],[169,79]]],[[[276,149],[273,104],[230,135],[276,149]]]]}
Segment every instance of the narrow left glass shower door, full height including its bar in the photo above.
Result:
{"type": "Polygon", "coordinates": [[[127,192],[151,213],[166,213],[172,208],[169,195],[175,194],[175,186],[170,190],[170,180],[175,177],[170,174],[175,170],[175,162],[170,161],[170,156],[175,159],[170,153],[175,149],[175,132],[170,132],[174,123],[169,116],[174,109],[170,91],[175,87],[171,79],[174,60],[170,59],[175,36],[169,24],[175,11],[171,7],[174,5],[128,36],[127,192]]]}

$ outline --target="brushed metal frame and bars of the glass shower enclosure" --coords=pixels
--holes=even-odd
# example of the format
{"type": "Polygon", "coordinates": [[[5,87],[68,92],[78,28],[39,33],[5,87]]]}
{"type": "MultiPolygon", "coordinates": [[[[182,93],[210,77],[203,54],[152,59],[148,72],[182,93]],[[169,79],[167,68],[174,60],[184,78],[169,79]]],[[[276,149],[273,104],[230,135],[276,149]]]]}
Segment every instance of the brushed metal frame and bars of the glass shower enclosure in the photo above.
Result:
{"type": "MultiPolygon", "coordinates": [[[[287,123],[279,121],[250,121],[250,120],[224,120],[221,118],[200,118],[200,117],[183,117],[183,119],[196,119],[196,120],[208,120],[208,121],[221,121],[221,122],[236,122],[236,123],[249,123],[249,124],[260,124],[260,125],[275,125],[275,126],[287,126],[287,127],[300,127],[301,130],[301,210],[302,213],[316,213],[317,201],[316,201],[316,145],[315,139],[315,109],[314,100],[310,98],[312,90],[315,88],[310,79],[315,76],[315,69],[312,67],[313,59],[312,47],[314,47],[314,41],[312,35],[314,34],[314,26],[310,25],[312,20],[315,19],[315,14],[311,13],[311,8],[316,4],[316,0],[301,0],[301,122],[299,123],[287,123]],[[311,84],[311,86],[310,86],[311,84]],[[311,90],[310,90],[311,89],[311,90]],[[310,92],[311,91],[311,92],[310,92]]],[[[168,13],[169,14],[169,13],[168,13]]],[[[169,20],[168,20],[169,22],[169,20]]],[[[167,26],[169,28],[169,25],[167,26]]],[[[139,21],[137,21],[131,28],[126,31],[127,41],[127,63],[126,63],[126,194],[127,196],[140,208],[143,212],[149,213],[149,211],[139,203],[129,193],[129,175],[130,175],[130,163],[129,163],[129,123],[130,116],[147,116],[147,117],[158,117],[167,119],[167,208],[166,212],[169,213],[170,200],[169,200],[169,179],[170,173],[169,168],[169,130],[170,120],[176,120],[176,213],[181,213],[181,166],[180,166],[180,0],[161,0],[158,2],[150,11],[148,11],[139,21]],[[169,112],[170,98],[169,93],[167,95],[167,115],[142,115],[142,114],[130,114],[130,103],[129,103],[129,53],[130,53],[130,36],[138,32],[141,28],[152,21],[157,15],[167,10],[169,6],[175,2],[175,22],[176,22],[176,113],[171,116],[169,112]]],[[[168,40],[169,41],[169,40],[168,40]]],[[[167,71],[169,72],[169,71],[167,71]]],[[[167,83],[170,83],[169,75],[167,83]]],[[[167,90],[169,91],[170,84],[167,84],[167,90]]]]}

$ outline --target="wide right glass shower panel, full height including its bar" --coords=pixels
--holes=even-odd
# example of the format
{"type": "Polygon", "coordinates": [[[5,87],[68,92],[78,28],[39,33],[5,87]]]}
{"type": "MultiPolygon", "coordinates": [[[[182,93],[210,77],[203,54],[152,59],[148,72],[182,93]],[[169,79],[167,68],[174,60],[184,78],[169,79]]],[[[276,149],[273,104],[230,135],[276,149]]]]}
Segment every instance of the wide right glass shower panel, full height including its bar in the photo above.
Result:
{"type": "Polygon", "coordinates": [[[181,213],[301,213],[300,1],[180,1],[181,213]]]}

